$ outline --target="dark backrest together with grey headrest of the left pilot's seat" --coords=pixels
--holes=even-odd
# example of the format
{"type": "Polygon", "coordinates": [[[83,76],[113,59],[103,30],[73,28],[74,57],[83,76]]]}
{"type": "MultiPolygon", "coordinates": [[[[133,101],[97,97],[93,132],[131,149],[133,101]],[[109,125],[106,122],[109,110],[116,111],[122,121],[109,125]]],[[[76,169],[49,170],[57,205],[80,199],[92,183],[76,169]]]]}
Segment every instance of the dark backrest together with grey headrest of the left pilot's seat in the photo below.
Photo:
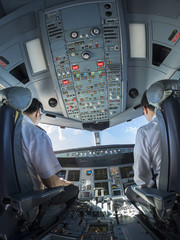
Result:
{"type": "Polygon", "coordinates": [[[31,92],[27,88],[11,87],[0,91],[0,198],[23,192],[23,181],[20,183],[18,175],[24,170],[17,167],[22,164],[15,162],[17,144],[20,144],[16,136],[19,134],[17,126],[21,121],[21,111],[29,106],[31,100],[31,92]]]}

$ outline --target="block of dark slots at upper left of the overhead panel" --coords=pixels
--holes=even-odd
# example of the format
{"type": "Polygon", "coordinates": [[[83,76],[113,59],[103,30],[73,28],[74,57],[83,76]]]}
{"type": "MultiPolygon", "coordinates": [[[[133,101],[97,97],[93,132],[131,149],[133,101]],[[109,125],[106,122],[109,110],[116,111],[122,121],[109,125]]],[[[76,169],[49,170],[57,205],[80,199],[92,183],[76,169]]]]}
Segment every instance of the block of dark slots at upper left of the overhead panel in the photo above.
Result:
{"type": "Polygon", "coordinates": [[[47,31],[50,39],[57,39],[63,37],[63,30],[60,21],[47,25],[47,31]]]}

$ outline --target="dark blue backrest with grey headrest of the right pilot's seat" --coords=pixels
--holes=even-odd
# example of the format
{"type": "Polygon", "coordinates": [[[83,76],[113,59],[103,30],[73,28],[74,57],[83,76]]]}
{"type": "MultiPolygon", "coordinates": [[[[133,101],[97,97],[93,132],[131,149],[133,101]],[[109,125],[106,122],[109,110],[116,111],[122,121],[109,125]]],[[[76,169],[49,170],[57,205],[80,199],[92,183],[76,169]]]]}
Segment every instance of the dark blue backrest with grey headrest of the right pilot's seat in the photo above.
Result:
{"type": "Polygon", "coordinates": [[[162,80],[147,90],[162,136],[159,189],[180,194],[180,81],[162,80]]]}

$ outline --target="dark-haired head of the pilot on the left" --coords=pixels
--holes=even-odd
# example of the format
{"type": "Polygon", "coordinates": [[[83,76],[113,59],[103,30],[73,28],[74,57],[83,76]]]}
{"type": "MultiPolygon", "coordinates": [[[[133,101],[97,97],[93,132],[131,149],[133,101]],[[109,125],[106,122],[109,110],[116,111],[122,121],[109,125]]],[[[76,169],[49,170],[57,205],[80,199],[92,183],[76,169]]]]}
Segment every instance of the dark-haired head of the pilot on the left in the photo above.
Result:
{"type": "Polygon", "coordinates": [[[37,98],[33,98],[31,105],[24,111],[24,114],[28,116],[35,125],[38,125],[41,120],[42,110],[42,103],[37,98]]]}

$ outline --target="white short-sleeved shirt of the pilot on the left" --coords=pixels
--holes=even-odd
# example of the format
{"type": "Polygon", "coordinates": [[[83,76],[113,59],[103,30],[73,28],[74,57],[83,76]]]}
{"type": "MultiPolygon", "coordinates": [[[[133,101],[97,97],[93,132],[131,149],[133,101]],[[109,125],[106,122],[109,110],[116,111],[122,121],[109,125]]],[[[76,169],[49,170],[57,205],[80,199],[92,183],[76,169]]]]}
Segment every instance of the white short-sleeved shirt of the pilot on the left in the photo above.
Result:
{"type": "Polygon", "coordinates": [[[31,119],[25,115],[21,133],[23,154],[34,190],[40,190],[43,188],[40,178],[53,176],[61,170],[61,166],[46,132],[34,125],[31,119]]]}

